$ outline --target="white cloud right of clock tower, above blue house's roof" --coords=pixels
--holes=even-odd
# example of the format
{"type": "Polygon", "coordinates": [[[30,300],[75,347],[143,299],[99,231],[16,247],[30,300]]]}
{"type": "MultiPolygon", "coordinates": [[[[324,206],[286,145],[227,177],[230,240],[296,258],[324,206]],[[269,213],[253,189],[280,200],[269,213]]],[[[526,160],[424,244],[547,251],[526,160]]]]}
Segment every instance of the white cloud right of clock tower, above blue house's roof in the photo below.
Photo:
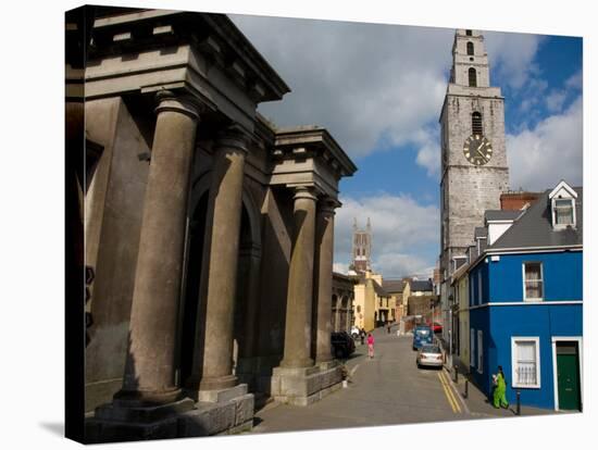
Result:
{"type": "Polygon", "coordinates": [[[543,190],[561,178],[583,184],[583,103],[577,99],[561,114],[532,129],[507,135],[511,188],[543,190]]]}

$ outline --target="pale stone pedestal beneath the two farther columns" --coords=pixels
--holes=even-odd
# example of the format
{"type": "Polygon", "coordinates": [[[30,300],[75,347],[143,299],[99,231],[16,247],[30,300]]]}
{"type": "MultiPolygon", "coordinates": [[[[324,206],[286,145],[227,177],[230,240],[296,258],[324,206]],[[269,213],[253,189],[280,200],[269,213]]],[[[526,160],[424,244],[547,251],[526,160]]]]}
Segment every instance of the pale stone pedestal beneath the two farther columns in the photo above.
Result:
{"type": "Polygon", "coordinates": [[[334,362],[312,367],[274,367],[271,395],[282,403],[307,407],[340,389],[342,373],[334,362]]]}

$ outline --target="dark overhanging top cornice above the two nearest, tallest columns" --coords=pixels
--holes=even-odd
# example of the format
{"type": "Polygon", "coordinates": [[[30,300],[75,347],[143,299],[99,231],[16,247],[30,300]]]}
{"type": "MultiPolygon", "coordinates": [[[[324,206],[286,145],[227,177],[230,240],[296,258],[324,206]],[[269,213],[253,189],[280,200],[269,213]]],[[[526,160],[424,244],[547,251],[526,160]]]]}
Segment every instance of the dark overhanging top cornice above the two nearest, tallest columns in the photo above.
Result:
{"type": "MultiPolygon", "coordinates": [[[[190,45],[219,66],[256,103],[279,100],[290,91],[233,22],[223,14],[133,10],[97,18],[91,60],[115,55],[135,59],[148,51],[190,45]]],[[[163,70],[163,68],[162,68],[163,70]]]]}

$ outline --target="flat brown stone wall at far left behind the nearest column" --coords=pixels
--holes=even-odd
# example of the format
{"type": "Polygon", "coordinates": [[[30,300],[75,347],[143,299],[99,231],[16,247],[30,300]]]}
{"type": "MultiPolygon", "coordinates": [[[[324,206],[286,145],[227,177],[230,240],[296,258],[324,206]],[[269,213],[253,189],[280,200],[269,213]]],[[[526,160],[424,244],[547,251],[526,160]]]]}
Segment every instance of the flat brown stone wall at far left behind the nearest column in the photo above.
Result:
{"type": "Polygon", "coordinates": [[[87,138],[103,147],[86,198],[86,264],[96,271],[86,411],[110,401],[122,384],[149,167],[138,154],[149,153],[150,126],[120,98],[86,102],[87,138]]]}

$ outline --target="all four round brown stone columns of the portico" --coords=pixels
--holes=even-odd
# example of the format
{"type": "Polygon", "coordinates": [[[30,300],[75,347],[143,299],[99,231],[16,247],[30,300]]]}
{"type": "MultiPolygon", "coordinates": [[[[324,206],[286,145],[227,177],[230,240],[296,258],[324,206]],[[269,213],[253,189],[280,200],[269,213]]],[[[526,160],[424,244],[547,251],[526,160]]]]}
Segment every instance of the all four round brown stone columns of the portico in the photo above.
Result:
{"type": "MultiPolygon", "coordinates": [[[[177,315],[190,171],[202,105],[187,96],[163,91],[157,113],[127,362],[123,387],[114,396],[115,403],[122,407],[169,404],[183,398],[175,366],[177,315]]],[[[234,125],[220,134],[214,146],[205,226],[208,270],[201,283],[205,286],[204,333],[217,338],[211,339],[202,358],[194,361],[191,380],[199,391],[219,392],[238,384],[232,367],[233,317],[248,141],[249,134],[234,125]]],[[[281,366],[304,368],[313,367],[314,359],[317,363],[332,360],[334,208],[339,203],[328,197],[319,198],[314,186],[294,189],[295,229],[281,366]],[[316,342],[312,355],[313,326],[316,342]]]]}

